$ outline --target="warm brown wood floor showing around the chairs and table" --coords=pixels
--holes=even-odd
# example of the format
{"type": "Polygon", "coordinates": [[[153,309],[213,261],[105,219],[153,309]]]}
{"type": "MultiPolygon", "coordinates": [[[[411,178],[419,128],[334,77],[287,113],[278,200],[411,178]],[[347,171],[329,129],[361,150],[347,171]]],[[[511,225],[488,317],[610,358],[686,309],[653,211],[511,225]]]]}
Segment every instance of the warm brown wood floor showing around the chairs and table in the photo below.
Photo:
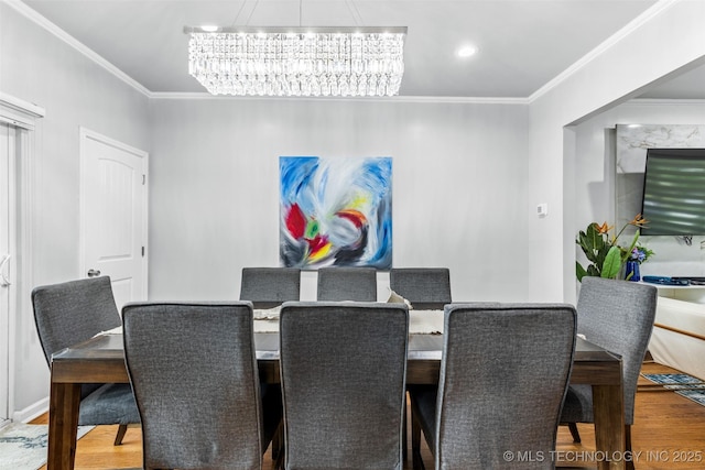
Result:
{"type": "MultiPolygon", "coordinates": [[[[664,365],[647,362],[643,373],[677,372],[664,365]]],[[[636,468],[640,470],[705,468],[705,406],[671,391],[639,379],[636,401],[636,423],[632,445],[636,468]],[[687,461],[690,460],[690,461],[687,461]]],[[[42,415],[33,423],[46,423],[42,415]]],[[[567,427],[558,430],[556,456],[561,468],[596,468],[586,461],[595,451],[595,435],[590,425],[578,425],[582,444],[573,444],[567,427]]],[[[139,427],[130,428],[122,446],[113,446],[117,426],[98,426],[78,441],[76,469],[137,469],[142,466],[142,442],[139,427]]],[[[433,468],[429,449],[422,447],[424,463],[433,468]]],[[[271,468],[270,452],[264,468],[271,468]]],[[[42,467],[41,470],[45,470],[42,467]]],[[[411,469],[411,457],[404,469],[411,469]]]]}

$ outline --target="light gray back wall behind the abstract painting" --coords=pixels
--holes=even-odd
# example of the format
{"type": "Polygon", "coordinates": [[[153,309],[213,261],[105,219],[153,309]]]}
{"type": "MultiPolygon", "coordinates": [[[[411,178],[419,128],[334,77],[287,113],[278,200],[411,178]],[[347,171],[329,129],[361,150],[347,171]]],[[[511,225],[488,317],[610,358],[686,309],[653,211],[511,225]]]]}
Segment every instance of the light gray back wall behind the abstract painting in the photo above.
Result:
{"type": "Polygon", "coordinates": [[[458,300],[525,297],[525,106],[156,99],[150,127],[151,298],[237,298],[243,266],[279,265],[280,155],[391,156],[394,265],[448,266],[458,300]]]}

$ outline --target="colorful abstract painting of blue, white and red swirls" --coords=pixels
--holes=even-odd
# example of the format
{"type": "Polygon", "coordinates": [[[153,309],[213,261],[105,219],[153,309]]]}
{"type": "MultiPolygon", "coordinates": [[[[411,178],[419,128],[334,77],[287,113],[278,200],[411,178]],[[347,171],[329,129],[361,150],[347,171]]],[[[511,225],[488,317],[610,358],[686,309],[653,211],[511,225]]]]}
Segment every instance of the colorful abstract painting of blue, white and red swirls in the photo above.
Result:
{"type": "Polygon", "coordinates": [[[282,265],[391,267],[391,157],[281,156],[279,168],[282,265]]]}

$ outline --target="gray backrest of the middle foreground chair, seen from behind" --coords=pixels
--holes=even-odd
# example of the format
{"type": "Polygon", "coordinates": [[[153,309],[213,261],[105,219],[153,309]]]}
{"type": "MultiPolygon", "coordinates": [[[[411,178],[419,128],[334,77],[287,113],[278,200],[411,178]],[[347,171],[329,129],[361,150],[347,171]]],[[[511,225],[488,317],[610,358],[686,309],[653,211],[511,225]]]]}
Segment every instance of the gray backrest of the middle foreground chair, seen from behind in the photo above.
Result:
{"type": "Polygon", "coordinates": [[[288,469],[399,469],[409,313],[285,303],[280,364],[288,469]]]}

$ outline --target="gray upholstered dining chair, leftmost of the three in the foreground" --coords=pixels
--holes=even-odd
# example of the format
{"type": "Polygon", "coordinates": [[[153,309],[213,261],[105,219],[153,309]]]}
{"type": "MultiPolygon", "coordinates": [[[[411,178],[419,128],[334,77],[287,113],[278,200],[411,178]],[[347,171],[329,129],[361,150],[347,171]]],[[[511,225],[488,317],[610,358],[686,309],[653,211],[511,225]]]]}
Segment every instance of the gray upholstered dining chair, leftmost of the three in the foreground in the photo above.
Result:
{"type": "Polygon", "coordinates": [[[124,359],[145,469],[257,469],[281,426],[260,390],[252,304],[128,304],[124,359]]]}

